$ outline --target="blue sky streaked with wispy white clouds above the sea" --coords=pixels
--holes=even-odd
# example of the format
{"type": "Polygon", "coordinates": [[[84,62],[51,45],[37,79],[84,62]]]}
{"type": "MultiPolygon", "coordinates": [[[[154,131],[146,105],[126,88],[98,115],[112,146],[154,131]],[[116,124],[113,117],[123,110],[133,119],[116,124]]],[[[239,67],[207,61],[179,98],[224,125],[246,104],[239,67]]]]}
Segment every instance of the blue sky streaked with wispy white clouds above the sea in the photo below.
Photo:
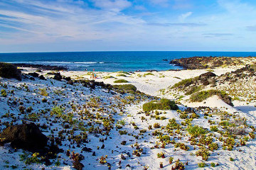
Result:
{"type": "Polygon", "coordinates": [[[0,0],[0,52],[256,51],[255,0],[0,0]]]}

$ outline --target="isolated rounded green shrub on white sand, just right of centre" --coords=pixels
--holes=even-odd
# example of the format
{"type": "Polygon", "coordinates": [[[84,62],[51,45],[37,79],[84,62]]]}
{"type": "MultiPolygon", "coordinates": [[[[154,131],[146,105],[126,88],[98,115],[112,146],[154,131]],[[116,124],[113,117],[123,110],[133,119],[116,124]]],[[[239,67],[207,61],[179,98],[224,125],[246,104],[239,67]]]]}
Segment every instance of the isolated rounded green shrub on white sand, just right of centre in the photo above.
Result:
{"type": "Polygon", "coordinates": [[[159,102],[150,101],[149,103],[144,103],[142,106],[143,111],[154,111],[154,110],[177,110],[175,101],[170,101],[166,98],[161,98],[159,102]]]}

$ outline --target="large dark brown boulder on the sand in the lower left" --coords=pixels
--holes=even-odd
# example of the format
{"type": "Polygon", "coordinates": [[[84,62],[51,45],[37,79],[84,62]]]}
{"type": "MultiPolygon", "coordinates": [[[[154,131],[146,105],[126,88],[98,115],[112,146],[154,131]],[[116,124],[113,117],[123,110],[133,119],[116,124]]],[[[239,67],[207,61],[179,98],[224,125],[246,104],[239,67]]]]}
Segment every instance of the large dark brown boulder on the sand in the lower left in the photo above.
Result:
{"type": "Polygon", "coordinates": [[[2,143],[11,142],[11,147],[37,151],[46,147],[48,138],[34,123],[11,125],[0,134],[2,143]]]}

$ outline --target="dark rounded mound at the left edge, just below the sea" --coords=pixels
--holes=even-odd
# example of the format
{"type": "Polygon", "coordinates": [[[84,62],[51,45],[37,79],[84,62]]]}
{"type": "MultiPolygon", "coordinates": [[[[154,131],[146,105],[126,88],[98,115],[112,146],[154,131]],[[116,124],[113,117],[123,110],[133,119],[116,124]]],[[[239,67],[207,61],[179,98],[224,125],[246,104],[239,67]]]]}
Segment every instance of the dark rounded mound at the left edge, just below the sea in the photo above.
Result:
{"type": "Polygon", "coordinates": [[[21,80],[21,71],[14,64],[0,62],[0,77],[21,80]]]}

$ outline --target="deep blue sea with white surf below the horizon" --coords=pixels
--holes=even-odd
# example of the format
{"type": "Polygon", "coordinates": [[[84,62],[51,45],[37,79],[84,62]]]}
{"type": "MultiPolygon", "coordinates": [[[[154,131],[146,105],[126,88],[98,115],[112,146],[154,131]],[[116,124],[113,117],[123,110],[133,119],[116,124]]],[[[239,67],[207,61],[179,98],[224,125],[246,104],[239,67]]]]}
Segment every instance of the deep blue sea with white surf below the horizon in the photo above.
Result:
{"type": "Polygon", "coordinates": [[[256,56],[256,52],[199,52],[199,51],[161,51],[161,52],[29,52],[0,53],[0,62],[47,64],[68,67],[69,70],[99,72],[146,71],[182,69],[169,64],[170,60],[194,56],[256,56]],[[164,61],[168,60],[168,61],[164,61]]]}

